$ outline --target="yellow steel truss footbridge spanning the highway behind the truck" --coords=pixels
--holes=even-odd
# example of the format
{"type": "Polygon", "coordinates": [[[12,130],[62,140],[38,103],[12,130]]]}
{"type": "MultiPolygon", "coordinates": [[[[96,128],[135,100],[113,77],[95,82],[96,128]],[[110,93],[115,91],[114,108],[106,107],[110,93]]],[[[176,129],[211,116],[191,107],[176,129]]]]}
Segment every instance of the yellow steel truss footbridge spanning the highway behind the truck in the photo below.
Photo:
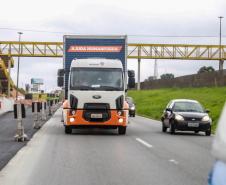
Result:
{"type": "MultiPolygon", "coordinates": [[[[0,41],[0,57],[63,57],[63,49],[63,42],[0,41]]],[[[127,55],[138,59],[139,90],[141,59],[219,60],[222,70],[225,51],[225,45],[128,44],[127,55]]]]}

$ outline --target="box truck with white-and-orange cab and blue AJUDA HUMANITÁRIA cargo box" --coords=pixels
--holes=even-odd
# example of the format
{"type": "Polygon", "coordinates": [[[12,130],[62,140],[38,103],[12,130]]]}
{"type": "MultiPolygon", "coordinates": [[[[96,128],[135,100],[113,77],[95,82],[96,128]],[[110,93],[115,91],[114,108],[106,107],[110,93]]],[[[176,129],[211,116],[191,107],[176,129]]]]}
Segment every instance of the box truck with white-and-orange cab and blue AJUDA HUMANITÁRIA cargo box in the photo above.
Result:
{"type": "Polygon", "coordinates": [[[126,36],[64,36],[64,69],[58,86],[65,90],[62,121],[65,133],[76,128],[112,128],[126,133],[128,87],[126,36]],[[68,60],[68,61],[67,61],[68,60]]]}

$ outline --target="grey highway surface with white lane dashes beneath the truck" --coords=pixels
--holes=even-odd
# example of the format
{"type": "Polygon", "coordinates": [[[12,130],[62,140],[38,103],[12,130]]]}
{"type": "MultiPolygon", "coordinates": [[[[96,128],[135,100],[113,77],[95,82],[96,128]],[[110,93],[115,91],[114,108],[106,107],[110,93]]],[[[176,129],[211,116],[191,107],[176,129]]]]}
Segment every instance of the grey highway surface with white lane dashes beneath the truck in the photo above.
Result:
{"type": "Polygon", "coordinates": [[[161,132],[161,123],[130,118],[117,130],[64,133],[61,109],[0,172],[4,185],[204,185],[214,158],[214,136],[161,132]]]}

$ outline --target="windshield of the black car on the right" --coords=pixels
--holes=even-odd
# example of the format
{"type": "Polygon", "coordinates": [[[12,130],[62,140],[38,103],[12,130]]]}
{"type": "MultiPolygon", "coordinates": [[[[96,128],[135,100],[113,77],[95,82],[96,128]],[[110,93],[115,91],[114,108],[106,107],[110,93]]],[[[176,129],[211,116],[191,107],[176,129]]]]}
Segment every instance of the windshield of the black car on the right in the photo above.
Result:
{"type": "Polygon", "coordinates": [[[200,112],[204,113],[203,107],[196,102],[176,102],[173,110],[175,112],[200,112]]]}

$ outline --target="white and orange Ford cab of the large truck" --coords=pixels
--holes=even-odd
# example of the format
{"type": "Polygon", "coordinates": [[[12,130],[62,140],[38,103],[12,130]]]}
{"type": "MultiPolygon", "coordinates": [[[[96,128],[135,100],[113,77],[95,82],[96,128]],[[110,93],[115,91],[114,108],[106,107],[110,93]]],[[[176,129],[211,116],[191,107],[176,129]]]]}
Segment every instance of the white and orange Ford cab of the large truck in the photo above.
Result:
{"type": "Polygon", "coordinates": [[[73,59],[68,78],[68,101],[63,106],[65,133],[73,128],[118,128],[126,133],[127,80],[118,59],[73,59]]]}

